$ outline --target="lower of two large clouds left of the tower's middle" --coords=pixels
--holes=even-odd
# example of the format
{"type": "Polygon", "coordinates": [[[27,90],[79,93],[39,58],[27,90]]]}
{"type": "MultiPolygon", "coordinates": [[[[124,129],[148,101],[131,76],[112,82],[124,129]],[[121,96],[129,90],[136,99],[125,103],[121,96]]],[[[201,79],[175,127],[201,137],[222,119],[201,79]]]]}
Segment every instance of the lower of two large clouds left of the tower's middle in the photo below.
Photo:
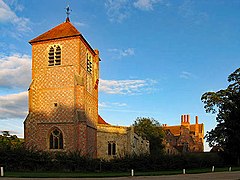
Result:
{"type": "Polygon", "coordinates": [[[25,118],[28,113],[28,92],[0,96],[0,120],[25,118]]]}

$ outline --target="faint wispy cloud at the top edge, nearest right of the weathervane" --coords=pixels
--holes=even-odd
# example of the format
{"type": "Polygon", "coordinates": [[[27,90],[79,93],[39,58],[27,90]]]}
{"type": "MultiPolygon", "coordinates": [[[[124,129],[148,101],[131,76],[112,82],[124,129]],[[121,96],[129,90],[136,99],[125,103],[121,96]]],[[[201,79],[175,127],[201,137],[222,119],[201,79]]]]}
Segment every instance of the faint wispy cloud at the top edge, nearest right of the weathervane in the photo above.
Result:
{"type": "Polygon", "coordinates": [[[105,8],[111,22],[122,22],[130,13],[130,3],[128,0],[106,0],[105,8]]]}

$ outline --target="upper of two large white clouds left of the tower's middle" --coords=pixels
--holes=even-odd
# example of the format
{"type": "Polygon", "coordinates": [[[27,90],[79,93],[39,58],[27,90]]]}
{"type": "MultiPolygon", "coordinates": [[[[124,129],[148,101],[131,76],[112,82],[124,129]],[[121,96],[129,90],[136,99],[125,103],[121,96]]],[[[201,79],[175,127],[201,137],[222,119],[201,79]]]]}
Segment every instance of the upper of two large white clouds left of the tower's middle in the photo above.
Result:
{"type": "Polygon", "coordinates": [[[0,86],[27,89],[31,82],[31,58],[14,54],[0,56],[0,86]]]}

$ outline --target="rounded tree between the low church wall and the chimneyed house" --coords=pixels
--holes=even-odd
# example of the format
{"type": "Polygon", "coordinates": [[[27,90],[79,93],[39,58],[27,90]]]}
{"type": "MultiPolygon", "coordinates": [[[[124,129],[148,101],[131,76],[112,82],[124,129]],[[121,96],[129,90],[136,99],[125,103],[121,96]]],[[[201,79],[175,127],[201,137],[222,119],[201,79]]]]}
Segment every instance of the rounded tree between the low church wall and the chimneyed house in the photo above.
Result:
{"type": "Polygon", "coordinates": [[[150,142],[150,154],[163,153],[163,130],[158,121],[153,118],[137,118],[133,124],[134,132],[150,142]]]}

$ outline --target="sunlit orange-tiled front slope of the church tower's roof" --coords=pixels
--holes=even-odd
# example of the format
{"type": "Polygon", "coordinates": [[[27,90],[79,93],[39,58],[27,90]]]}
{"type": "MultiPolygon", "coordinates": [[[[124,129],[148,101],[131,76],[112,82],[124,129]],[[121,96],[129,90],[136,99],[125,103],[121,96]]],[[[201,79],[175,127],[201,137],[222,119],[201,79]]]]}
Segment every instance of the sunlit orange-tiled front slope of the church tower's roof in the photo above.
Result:
{"type": "Polygon", "coordinates": [[[70,21],[66,21],[43,33],[42,35],[32,39],[31,41],[29,41],[29,43],[31,44],[39,41],[47,41],[52,39],[74,36],[81,36],[81,33],[72,25],[72,23],[70,23],[70,21]]]}

